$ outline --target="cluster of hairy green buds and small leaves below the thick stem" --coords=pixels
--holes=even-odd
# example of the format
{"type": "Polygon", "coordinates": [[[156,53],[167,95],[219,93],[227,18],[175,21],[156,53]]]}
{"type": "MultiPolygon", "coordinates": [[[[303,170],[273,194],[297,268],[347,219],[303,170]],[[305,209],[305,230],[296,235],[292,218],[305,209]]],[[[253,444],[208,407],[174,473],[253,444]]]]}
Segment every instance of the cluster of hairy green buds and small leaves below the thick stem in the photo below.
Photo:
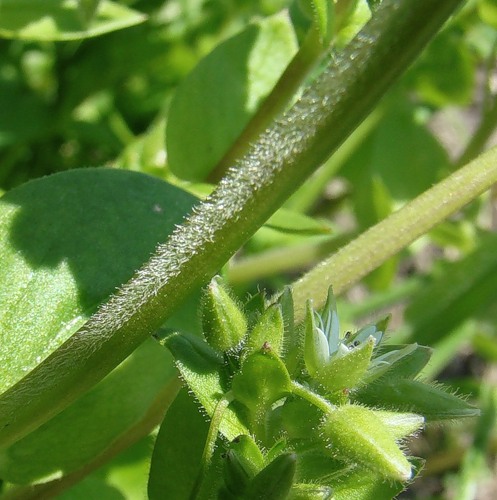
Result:
{"type": "Polygon", "coordinates": [[[342,334],[331,289],[323,310],[309,301],[295,325],[290,290],[242,309],[214,279],[202,319],[204,338],[163,341],[211,419],[192,498],[212,468],[223,499],[392,498],[422,465],[405,439],[428,421],[478,413],[417,378],[431,350],[384,344],[386,319],[342,334]]]}

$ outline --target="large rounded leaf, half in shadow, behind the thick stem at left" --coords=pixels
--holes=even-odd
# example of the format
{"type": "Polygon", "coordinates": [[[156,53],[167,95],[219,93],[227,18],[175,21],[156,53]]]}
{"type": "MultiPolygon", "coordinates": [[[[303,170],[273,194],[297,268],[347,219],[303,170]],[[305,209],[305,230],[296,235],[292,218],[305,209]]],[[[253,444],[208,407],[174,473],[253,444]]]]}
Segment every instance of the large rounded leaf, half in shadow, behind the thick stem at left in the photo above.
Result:
{"type": "MultiPolygon", "coordinates": [[[[17,382],[131,278],[194,201],[158,179],[110,169],[65,172],[6,193],[0,199],[0,393],[15,393],[17,382]]],[[[185,315],[168,324],[195,330],[195,318],[185,315]]],[[[51,376],[64,372],[54,363],[51,376]]],[[[37,387],[25,391],[19,405],[39,398],[50,413],[53,402],[37,387]]],[[[0,427],[13,418],[4,412],[0,427]]]]}

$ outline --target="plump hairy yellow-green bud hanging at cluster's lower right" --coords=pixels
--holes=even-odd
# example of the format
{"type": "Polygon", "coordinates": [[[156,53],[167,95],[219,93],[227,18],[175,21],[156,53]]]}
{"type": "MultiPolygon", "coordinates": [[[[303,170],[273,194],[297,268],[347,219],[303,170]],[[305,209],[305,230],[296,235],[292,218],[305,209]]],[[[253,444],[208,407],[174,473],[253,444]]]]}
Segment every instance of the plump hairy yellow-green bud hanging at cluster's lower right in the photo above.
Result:
{"type": "Polygon", "coordinates": [[[411,464],[372,410],[358,405],[341,406],[326,416],[322,432],[344,460],[369,468],[385,479],[411,478],[411,464]]]}

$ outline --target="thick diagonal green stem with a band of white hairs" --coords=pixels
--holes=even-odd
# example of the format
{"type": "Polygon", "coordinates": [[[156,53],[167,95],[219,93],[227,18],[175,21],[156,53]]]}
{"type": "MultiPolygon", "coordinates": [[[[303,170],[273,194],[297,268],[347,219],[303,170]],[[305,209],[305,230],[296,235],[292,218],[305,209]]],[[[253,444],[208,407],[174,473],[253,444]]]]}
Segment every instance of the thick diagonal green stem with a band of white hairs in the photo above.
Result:
{"type": "Polygon", "coordinates": [[[207,282],[367,116],[461,0],[385,0],[155,255],[0,399],[0,445],[101,380],[207,282]]]}

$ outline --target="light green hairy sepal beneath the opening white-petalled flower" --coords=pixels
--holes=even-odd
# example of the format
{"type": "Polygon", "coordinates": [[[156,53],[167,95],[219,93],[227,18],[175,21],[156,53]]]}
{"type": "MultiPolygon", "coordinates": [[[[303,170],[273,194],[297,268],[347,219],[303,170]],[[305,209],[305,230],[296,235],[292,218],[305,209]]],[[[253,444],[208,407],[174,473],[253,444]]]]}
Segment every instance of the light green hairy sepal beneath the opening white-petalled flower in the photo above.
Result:
{"type": "Polygon", "coordinates": [[[374,346],[375,340],[370,337],[344,355],[335,354],[326,366],[315,373],[315,380],[329,392],[353,389],[361,382],[369,367],[374,346]]]}

